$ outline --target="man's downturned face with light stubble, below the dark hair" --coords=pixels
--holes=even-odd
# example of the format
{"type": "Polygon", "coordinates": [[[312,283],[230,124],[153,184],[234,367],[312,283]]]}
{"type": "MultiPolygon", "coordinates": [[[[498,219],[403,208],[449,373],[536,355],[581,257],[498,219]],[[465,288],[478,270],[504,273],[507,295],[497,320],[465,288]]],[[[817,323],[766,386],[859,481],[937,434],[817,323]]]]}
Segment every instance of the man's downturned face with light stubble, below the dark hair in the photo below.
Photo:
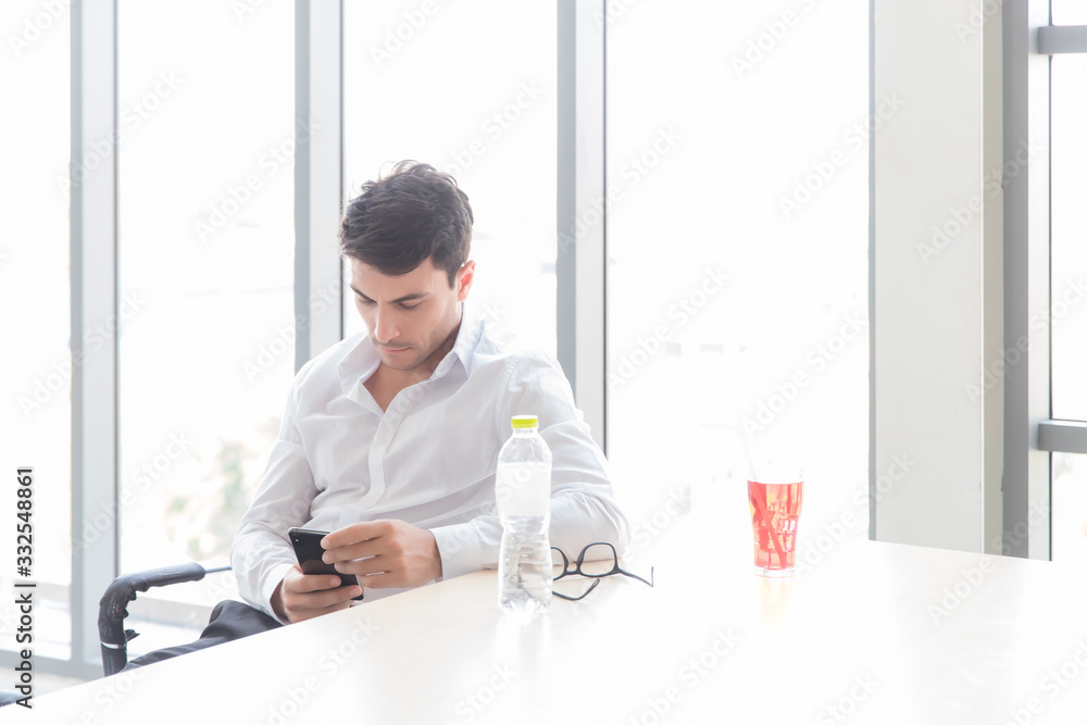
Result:
{"type": "Polygon", "coordinates": [[[382,364],[398,371],[427,366],[445,353],[446,340],[461,321],[460,302],[467,298],[475,262],[465,262],[449,287],[446,272],[427,258],[408,274],[389,276],[354,258],[351,289],[382,364]],[[436,358],[432,360],[432,358],[436,358]]]}

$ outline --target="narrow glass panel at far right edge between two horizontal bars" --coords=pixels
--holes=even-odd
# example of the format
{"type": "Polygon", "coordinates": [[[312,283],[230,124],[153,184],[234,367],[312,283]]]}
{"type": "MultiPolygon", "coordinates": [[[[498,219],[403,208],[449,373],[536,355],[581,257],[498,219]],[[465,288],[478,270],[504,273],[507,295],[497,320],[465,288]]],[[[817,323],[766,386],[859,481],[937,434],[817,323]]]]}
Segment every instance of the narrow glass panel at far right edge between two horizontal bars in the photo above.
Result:
{"type": "MultiPolygon", "coordinates": [[[[1053,417],[1087,420],[1087,55],[1052,64],[1053,417]]],[[[1041,321],[1044,324],[1045,321],[1041,321]]]]}

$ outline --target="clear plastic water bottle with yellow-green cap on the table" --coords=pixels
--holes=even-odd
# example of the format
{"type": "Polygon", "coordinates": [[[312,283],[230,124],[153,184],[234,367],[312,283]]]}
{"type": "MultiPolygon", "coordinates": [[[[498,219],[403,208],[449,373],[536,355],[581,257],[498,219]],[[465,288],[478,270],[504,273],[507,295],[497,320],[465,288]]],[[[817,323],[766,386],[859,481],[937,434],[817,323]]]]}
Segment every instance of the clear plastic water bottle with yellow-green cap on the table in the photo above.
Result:
{"type": "Polygon", "coordinates": [[[535,614],[551,603],[551,451],[535,415],[514,415],[498,453],[495,498],[502,522],[498,605],[535,614]]]}

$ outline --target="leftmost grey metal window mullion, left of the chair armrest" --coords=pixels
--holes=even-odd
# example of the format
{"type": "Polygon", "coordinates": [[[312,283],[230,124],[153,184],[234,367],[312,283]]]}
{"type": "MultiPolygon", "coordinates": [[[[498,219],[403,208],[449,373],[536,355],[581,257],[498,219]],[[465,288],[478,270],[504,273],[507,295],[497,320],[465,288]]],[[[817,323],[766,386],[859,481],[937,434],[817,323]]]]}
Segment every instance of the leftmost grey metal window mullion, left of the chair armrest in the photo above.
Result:
{"type": "MultiPolygon", "coordinates": [[[[116,2],[72,3],[72,663],[100,663],[98,600],[117,575],[116,154],[76,173],[116,139],[116,2]],[[111,327],[113,328],[113,327],[111,327]],[[97,338],[95,338],[97,339],[97,338]],[[84,541],[85,525],[108,529],[84,541]]],[[[97,528],[96,528],[97,530],[97,528]]]]}

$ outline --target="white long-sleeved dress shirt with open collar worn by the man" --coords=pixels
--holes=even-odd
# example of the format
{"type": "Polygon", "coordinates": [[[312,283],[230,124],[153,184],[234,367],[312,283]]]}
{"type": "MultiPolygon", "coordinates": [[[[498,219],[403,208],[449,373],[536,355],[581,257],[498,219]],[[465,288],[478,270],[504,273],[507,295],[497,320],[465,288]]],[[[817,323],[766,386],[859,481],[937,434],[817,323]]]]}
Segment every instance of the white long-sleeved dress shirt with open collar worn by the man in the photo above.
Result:
{"type": "MultiPolygon", "coordinates": [[[[483,321],[462,318],[429,379],[401,390],[385,412],[363,385],[378,362],[362,334],[295,377],[279,439],[230,551],[247,602],[276,616],[272,593],[296,561],[291,526],[330,532],[400,518],[434,534],[442,577],[497,567],[495,472],[513,415],[538,415],[551,449],[551,545],[572,560],[591,541],[626,546],[607,461],[554,360],[503,349],[483,321]]],[[[398,591],[367,588],[365,598],[398,591]]]]}

